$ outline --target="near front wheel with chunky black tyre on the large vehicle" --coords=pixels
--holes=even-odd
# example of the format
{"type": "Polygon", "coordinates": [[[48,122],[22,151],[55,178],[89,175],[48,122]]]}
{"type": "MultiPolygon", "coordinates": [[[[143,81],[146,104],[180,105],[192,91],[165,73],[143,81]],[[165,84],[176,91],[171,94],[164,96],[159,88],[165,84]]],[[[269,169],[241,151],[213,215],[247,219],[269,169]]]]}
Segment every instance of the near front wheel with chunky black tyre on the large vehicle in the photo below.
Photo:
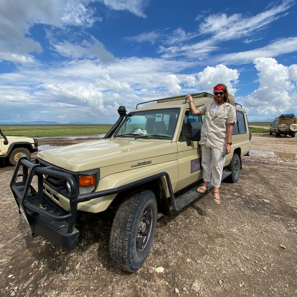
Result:
{"type": "Polygon", "coordinates": [[[119,206],[110,232],[109,253],[115,265],[134,272],[148,257],[157,223],[157,202],[149,190],[138,190],[119,206]]]}

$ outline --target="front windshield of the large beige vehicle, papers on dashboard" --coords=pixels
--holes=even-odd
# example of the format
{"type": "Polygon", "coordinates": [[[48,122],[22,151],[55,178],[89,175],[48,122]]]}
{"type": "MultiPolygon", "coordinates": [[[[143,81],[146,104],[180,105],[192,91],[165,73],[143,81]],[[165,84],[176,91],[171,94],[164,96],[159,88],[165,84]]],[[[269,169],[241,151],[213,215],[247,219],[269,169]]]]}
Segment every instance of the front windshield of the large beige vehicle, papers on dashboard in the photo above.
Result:
{"type": "Polygon", "coordinates": [[[172,108],[129,113],[114,137],[172,139],[179,111],[172,108]]]}

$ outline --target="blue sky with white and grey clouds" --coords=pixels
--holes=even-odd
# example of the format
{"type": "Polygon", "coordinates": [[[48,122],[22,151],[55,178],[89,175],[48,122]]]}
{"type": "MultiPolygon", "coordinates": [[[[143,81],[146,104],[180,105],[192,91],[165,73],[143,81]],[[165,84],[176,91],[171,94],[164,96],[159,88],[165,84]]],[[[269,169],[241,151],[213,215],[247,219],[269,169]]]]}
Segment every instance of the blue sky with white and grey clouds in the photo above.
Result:
{"type": "Polygon", "coordinates": [[[225,83],[249,120],[297,113],[297,0],[1,0],[0,121],[113,123],[225,83]]]}

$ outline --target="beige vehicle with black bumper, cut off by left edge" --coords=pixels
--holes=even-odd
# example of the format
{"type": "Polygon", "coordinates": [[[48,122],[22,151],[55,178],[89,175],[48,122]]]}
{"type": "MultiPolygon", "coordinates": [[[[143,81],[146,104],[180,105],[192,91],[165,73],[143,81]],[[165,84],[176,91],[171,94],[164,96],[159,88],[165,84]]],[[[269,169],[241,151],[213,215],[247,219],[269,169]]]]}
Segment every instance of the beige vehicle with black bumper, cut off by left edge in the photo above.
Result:
{"type": "Polygon", "coordinates": [[[0,129],[0,162],[15,166],[18,159],[25,154],[30,160],[31,153],[38,151],[37,139],[29,137],[5,136],[0,129]]]}

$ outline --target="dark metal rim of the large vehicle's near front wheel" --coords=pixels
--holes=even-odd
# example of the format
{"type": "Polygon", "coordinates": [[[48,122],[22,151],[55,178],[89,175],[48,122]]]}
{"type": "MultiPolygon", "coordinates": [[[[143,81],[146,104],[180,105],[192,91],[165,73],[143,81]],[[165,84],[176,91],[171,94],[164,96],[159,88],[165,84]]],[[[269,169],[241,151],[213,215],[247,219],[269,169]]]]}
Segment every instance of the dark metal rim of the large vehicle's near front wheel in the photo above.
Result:
{"type": "Polygon", "coordinates": [[[142,252],[147,246],[152,226],[152,211],[149,206],[143,211],[137,225],[136,250],[142,252]]]}

